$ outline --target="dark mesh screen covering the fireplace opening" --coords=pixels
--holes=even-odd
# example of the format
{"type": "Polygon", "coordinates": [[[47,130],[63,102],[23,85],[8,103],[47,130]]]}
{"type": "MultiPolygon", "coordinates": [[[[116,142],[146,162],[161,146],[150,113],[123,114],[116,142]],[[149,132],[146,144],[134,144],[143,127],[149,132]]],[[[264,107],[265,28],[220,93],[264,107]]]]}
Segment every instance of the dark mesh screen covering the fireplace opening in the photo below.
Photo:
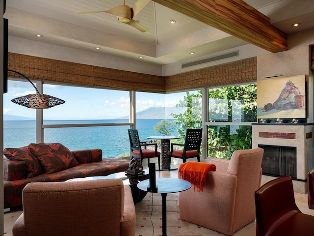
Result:
{"type": "Polygon", "coordinates": [[[259,145],[264,149],[263,175],[296,178],[296,147],[259,145]]]}

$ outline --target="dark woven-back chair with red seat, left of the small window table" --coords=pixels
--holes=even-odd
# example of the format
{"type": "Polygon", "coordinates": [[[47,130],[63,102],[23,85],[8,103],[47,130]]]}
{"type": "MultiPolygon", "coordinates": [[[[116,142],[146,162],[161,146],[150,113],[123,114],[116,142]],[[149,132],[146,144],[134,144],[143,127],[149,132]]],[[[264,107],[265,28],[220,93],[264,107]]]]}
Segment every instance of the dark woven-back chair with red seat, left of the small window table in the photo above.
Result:
{"type": "Polygon", "coordinates": [[[143,158],[147,158],[148,163],[150,163],[150,158],[157,157],[158,159],[158,170],[160,170],[160,152],[157,151],[157,144],[140,142],[137,129],[128,129],[130,147],[131,147],[131,160],[135,158],[141,158],[141,163],[143,163],[143,158]],[[147,149],[148,146],[155,146],[154,150],[147,149]],[[144,149],[142,149],[144,147],[144,149]]]}

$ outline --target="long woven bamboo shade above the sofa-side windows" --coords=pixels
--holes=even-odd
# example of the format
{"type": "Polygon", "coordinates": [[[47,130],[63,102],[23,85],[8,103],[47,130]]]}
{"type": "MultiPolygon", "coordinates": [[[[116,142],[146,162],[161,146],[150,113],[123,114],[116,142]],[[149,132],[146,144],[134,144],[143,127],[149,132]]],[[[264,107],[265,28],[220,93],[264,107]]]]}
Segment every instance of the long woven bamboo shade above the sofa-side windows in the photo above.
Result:
{"type": "MultiPolygon", "coordinates": [[[[95,88],[165,92],[165,78],[21,54],[8,54],[8,68],[30,79],[95,88]]],[[[9,76],[14,74],[9,72],[9,76]]]]}

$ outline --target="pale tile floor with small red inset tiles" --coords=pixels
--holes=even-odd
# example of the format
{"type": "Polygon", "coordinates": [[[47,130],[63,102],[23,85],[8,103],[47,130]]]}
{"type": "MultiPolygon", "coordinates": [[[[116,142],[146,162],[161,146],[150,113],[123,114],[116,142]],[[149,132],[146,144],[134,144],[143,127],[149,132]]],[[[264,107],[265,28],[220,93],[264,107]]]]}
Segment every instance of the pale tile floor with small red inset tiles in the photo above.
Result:
{"type": "MultiPolygon", "coordinates": [[[[160,171],[156,177],[177,177],[178,172],[160,171]]],[[[314,210],[308,208],[307,195],[295,193],[297,206],[303,213],[314,215],[314,210]]],[[[197,225],[180,220],[178,194],[167,195],[167,236],[224,236],[218,232],[199,227],[197,225]]],[[[136,228],[135,236],[159,236],[162,235],[161,220],[161,196],[160,194],[147,194],[142,202],[135,205],[136,228]],[[153,202],[153,204],[152,204],[153,202]],[[153,211],[152,211],[153,208],[153,211]],[[154,228],[152,226],[154,225],[154,228]],[[154,234],[153,234],[154,230],[154,234]]],[[[4,213],[4,236],[12,236],[12,226],[22,213],[21,209],[15,209],[4,213]]],[[[255,236],[255,223],[247,225],[237,231],[234,236],[255,236]]]]}

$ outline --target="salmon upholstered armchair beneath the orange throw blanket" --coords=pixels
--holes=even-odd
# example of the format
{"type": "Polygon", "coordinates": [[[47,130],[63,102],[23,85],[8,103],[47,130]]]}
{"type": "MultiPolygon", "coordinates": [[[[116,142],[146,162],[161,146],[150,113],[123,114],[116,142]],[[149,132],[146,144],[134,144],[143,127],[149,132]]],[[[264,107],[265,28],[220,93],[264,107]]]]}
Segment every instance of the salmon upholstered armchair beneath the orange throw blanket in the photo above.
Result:
{"type": "Polygon", "coordinates": [[[262,178],[262,148],[236,150],[231,160],[212,159],[203,192],[190,188],[179,194],[180,218],[232,235],[255,220],[254,192],[262,178]]]}

